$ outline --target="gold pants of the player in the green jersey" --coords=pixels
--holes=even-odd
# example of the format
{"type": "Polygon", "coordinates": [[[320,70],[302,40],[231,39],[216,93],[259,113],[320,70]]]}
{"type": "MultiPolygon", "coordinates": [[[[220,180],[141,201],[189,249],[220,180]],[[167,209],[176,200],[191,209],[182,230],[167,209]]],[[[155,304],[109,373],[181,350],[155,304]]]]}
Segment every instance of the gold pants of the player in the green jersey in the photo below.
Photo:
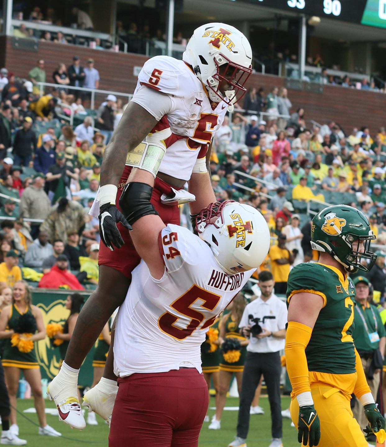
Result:
{"type": "MultiPolygon", "coordinates": [[[[367,447],[365,435],[352,416],[350,401],[338,388],[321,382],[311,385],[312,398],[320,419],[318,447],[367,447]]],[[[299,405],[291,401],[291,417],[297,427],[299,405]]]]}

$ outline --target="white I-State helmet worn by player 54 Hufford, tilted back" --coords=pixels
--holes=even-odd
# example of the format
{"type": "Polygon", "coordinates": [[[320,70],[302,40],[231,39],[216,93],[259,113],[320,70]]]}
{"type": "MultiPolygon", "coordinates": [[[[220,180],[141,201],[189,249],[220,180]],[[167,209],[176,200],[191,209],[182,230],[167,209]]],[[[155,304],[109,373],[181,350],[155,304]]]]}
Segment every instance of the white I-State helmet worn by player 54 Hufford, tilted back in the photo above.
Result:
{"type": "Polygon", "coordinates": [[[196,217],[196,231],[229,274],[259,267],[269,250],[269,228],[250,205],[226,200],[211,203],[196,217]]]}

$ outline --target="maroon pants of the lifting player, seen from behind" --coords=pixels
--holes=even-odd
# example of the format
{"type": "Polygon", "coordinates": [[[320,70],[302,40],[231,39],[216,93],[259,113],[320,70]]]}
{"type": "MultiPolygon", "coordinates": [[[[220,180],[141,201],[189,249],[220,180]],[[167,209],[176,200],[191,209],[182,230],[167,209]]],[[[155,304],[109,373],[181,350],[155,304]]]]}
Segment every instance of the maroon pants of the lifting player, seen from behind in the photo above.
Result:
{"type": "Polygon", "coordinates": [[[195,368],[118,379],[109,447],[197,447],[208,386],[195,368]]]}

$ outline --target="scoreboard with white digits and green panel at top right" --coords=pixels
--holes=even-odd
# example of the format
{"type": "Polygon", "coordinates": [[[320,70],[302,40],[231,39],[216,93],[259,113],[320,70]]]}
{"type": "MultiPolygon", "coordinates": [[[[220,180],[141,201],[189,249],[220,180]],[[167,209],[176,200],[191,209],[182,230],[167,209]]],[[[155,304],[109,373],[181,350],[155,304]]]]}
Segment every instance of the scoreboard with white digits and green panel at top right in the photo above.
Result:
{"type": "MultiPolygon", "coordinates": [[[[239,0],[240,1],[240,0],[239,0]]],[[[386,28],[386,0],[241,0],[250,4],[267,6],[342,20],[361,25],[386,28]]]]}

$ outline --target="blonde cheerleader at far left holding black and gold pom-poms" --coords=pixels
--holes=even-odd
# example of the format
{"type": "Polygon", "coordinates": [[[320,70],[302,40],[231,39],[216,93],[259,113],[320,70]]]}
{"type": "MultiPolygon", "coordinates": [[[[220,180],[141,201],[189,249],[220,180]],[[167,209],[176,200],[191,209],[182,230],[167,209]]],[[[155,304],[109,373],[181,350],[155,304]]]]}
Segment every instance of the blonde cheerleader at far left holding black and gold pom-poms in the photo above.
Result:
{"type": "Polygon", "coordinates": [[[18,281],[13,286],[12,304],[3,309],[0,314],[0,338],[6,339],[2,365],[5,382],[11,403],[11,427],[13,434],[18,436],[19,427],[16,423],[16,394],[19,386],[20,371],[30,384],[34,395],[34,406],[39,420],[39,434],[60,436],[60,433],[47,425],[45,404],[42,396],[42,375],[35,354],[34,342],[43,340],[46,331],[42,312],[31,303],[31,292],[25,281],[18,281]],[[29,333],[21,333],[28,325],[29,333]],[[6,330],[8,327],[9,330],[6,330]],[[17,330],[15,330],[17,329],[17,330]],[[20,332],[17,332],[20,331],[20,332]]]}

